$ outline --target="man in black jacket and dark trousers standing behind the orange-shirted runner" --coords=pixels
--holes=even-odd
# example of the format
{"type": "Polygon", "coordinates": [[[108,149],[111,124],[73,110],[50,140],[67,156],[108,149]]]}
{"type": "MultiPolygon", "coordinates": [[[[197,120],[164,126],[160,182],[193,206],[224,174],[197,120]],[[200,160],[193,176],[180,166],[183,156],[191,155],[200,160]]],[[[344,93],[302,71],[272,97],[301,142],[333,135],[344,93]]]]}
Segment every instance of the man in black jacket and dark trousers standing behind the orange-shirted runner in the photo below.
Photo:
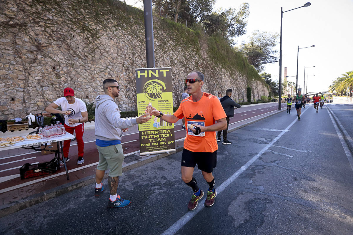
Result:
{"type": "MultiPolygon", "coordinates": [[[[222,144],[231,144],[229,140],[227,140],[227,131],[228,131],[228,126],[229,126],[229,118],[234,117],[234,107],[237,107],[238,109],[241,107],[239,104],[235,103],[234,100],[231,98],[232,96],[232,89],[227,89],[226,95],[223,96],[220,101],[221,105],[226,112],[226,120],[227,120],[227,129],[223,130],[223,142],[222,144]]],[[[218,131],[217,133],[217,141],[221,141],[221,133],[222,131],[218,131]]]]}

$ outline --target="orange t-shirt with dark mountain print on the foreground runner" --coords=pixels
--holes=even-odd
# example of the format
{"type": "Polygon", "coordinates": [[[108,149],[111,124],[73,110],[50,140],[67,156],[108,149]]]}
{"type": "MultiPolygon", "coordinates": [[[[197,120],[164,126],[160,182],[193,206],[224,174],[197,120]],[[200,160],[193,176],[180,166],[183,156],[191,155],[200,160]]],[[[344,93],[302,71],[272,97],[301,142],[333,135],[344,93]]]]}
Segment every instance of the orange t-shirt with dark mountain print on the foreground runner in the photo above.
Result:
{"type": "MultiPolygon", "coordinates": [[[[192,101],[192,96],[181,101],[179,109],[175,111],[174,116],[181,119],[185,117],[186,123],[197,123],[198,125],[210,126],[216,123],[216,120],[226,118],[221,102],[215,95],[203,93],[201,99],[197,102],[192,101]]],[[[186,127],[187,129],[187,127],[186,127]]],[[[211,152],[218,149],[215,131],[206,131],[199,135],[186,134],[184,148],[193,152],[211,152]],[[202,136],[204,135],[204,136],[202,136]]]]}

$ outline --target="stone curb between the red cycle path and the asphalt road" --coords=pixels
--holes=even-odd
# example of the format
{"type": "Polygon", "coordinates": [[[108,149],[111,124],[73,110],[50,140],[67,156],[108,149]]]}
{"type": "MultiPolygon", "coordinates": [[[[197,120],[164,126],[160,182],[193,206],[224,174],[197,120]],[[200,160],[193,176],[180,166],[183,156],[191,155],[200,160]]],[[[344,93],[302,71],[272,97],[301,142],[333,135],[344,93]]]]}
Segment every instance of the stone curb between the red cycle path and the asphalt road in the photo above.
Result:
{"type": "MultiPolygon", "coordinates": [[[[235,131],[237,129],[243,128],[244,126],[247,126],[247,125],[253,124],[255,122],[258,122],[260,120],[263,120],[265,118],[268,118],[268,117],[271,117],[273,115],[276,115],[277,113],[282,112],[284,110],[286,110],[286,109],[277,110],[274,113],[271,113],[270,115],[265,115],[263,117],[259,117],[259,118],[255,119],[255,120],[251,120],[250,122],[247,122],[247,123],[235,126],[233,128],[230,128],[230,129],[228,129],[228,133],[232,132],[232,131],[235,131]]],[[[183,150],[183,146],[184,146],[183,143],[181,143],[181,144],[180,143],[176,143],[175,144],[175,150],[176,151],[173,151],[173,152],[170,152],[170,153],[167,152],[167,153],[162,153],[162,154],[149,155],[149,156],[147,156],[147,157],[145,157],[143,159],[127,163],[127,164],[125,164],[122,167],[122,172],[129,171],[129,170],[134,169],[136,167],[145,165],[145,164],[147,164],[149,162],[154,162],[154,161],[156,161],[158,159],[161,159],[163,157],[166,157],[166,156],[172,155],[174,153],[177,153],[177,152],[183,150]]],[[[107,177],[108,177],[108,172],[104,174],[104,178],[103,179],[106,179],[107,177]]],[[[77,188],[81,188],[81,187],[84,187],[84,186],[87,186],[87,185],[90,185],[90,184],[93,184],[93,183],[95,183],[95,175],[90,175],[88,177],[85,177],[85,178],[82,178],[82,179],[78,179],[78,180],[72,181],[70,183],[67,183],[67,184],[64,184],[64,185],[61,185],[61,186],[46,190],[46,191],[41,192],[41,193],[37,193],[37,194],[29,196],[29,197],[26,197],[24,199],[19,200],[17,202],[17,204],[15,204],[15,205],[8,205],[8,206],[4,205],[4,206],[2,206],[2,208],[0,208],[0,212],[1,212],[0,213],[0,218],[5,217],[7,215],[10,215],[10,214],[12,214],[14,212],[29,208],[29,207],[31,207],[33,205],[45,202],[45,201],[47,201],[49,199],[52,199],[52,198],[57,197],[57,196],[60,196],[62,194],[71,192],[73,190],[76,190],[77,188]]]]}

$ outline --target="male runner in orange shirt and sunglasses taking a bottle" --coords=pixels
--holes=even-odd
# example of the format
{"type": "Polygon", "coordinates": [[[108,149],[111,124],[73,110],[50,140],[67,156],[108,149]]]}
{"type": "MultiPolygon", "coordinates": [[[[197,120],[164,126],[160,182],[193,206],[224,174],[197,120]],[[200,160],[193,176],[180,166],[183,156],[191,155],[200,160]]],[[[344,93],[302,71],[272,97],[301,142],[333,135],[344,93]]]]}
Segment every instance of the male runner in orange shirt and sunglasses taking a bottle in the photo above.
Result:
{"type": "Polygon", "coordinates": [[[212,175],[213,168],[217,163],[218,149],[215,131],[227,128],[227,115],[215,95],[202,92],[204,75],[201,72],[191,72],[187,75],[185,82],[187,93],[191,96],[181,101],[179,109],[173,115],[166,115],[153,108],[152,115],[169,123],[175,123],[185,117],[188,129],[181,156],[181,179],[194,192],[187,205],[189,210],[193,210],[204,195],[193,177],[196,164],[209,185],[205,206],[212,206],[215,202],[217,192],[214,188],[215,179],[212,175]]]}

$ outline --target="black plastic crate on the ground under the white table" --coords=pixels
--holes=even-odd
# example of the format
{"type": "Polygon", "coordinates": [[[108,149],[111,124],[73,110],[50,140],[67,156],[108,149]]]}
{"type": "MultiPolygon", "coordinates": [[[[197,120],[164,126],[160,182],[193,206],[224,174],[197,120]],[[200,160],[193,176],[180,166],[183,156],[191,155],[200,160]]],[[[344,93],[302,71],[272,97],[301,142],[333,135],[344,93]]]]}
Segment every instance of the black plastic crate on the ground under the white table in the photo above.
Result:
{"type": "Polygon", "coordinates": [[[26,163],[20,168],[21,179],[27,179],[40,175],[47,175],[55,173],[60,168],[58,159],[53,158],[50,162],[43,162],[31,165],[26,163]]]}

